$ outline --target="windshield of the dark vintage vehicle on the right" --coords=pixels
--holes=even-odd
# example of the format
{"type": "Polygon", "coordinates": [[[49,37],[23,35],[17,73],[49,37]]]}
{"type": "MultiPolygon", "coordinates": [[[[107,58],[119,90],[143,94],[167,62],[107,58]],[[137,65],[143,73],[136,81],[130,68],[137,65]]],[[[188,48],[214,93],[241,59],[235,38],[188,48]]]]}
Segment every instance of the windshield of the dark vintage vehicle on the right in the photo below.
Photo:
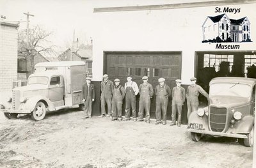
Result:
{"type": "Polygon", "coordinates": [[[248,98],[252,92],[248,84],[215,83],[211,84],[210,96],[240,96],[248,98]]]}

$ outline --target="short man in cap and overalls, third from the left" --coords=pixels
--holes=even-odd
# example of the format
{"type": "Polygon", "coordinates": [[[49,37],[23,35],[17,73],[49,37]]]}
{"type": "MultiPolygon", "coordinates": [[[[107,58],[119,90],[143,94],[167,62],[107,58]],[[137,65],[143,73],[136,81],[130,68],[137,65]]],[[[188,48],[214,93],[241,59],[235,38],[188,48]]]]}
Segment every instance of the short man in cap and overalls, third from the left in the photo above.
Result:
{"type": "Polygon", "coordinates": [[[115,86],[113,88],[113,98],[112,98],[112,121],[118,119],[122,121],[122,104],[125,96],[124,87],[120,85],[120,80],[114,80],[115,86]],[[117,110],[117,111],[116,111],[117,110]]]}

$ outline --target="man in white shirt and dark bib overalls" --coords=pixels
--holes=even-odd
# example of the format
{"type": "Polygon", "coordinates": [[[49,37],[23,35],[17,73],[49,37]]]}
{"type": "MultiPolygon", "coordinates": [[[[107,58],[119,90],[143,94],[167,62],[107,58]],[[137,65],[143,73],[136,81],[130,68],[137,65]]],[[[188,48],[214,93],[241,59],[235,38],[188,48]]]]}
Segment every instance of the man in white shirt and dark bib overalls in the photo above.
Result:
{"type": "Polygon", "coordinates": [[[132,81],[132,77],[127,77],[127,82],[124,85],[125,96],[125,120],[130,120],[131,109],[132,119],[136,121],[136,95],[139,93],[139,88],[136,82],[132,81]]]}

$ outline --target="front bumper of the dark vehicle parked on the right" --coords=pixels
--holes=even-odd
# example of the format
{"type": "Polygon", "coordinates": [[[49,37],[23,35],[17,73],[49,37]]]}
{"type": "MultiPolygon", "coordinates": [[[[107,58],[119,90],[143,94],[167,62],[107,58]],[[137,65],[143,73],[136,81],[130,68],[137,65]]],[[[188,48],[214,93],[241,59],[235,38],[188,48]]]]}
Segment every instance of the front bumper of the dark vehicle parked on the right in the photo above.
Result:
{"type": "Polygon", "coordinates": [[[188,132],[195,132],[198,134],[207,134],[207,135],[214,135],[214,136],[220,136],[220,137],[234,137],[234,138],[243,138],[247,139],[246,135],[243,134],[230,134],[230,133],[224,133],[224,132],[212,132],[207,130],[195,130],[192,128],[188,129],[188,132]]]}

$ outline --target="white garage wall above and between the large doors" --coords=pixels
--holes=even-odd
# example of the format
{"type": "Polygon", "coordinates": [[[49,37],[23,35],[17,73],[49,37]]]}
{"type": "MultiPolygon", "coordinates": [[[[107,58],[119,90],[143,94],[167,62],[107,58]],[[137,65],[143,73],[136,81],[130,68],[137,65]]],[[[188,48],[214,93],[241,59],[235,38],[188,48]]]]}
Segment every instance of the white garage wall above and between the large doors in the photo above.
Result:
{"type": "MultiPolygon", "coordinates": [[[[229,18],[247,16],[251,22],[253,43],[239,43],[239,50],[255,50],[256,4],[228,7],[241,8],[240,13],[227,13],[229,18]]],[[[102,80],[104,51],[182,51],[182,80],[189,84],[190,77],[194,75],[195,51],[216,50],[216,43],[202,43],[205,19],[221,14],[215,13],[215,8],[94,13],[93,80],[102,80]]]]}

